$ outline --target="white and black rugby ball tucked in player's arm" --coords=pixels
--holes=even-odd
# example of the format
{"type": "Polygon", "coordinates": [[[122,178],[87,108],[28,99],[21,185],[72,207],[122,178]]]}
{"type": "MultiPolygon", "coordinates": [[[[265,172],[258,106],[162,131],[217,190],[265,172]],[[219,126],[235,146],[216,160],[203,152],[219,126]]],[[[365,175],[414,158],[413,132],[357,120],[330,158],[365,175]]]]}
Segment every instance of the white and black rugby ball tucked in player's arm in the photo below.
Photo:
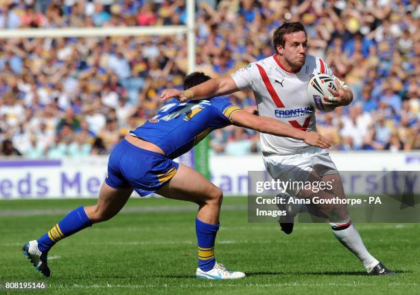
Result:
{"type": "Polygon", "coordinates": [[[309,84],[307,84],[307,98],[310,104],[321,112],[331,112],[334,108],[325,105],[324,95],[334,97],[328,88],[337,90],[336,83],[323,73],[314,73],[310,76],[309,84]]]}

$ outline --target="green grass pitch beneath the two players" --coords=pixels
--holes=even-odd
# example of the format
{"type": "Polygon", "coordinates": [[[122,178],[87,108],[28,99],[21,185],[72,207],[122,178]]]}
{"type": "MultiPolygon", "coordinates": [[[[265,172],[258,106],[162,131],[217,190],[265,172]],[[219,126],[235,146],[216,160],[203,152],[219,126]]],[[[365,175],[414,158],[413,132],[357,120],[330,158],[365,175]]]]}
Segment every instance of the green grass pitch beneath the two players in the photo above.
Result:
{"type": "Polygon", "coordinates": [[[21,247],[67,211],[94,202],[1,201],[0,281],[44,281],[47,294],[420,293],[420,224],[356,224],[371,253],[398,272],[372,277],[327,224],[296,224],[289,236],[277,224],[248,224],[246,198],[224,198],[215,248],[218,261],[245,279],[195,279],[196,207],[163,198],[132,198],[112,220],[60,241],[44,278],[21,247]]]}

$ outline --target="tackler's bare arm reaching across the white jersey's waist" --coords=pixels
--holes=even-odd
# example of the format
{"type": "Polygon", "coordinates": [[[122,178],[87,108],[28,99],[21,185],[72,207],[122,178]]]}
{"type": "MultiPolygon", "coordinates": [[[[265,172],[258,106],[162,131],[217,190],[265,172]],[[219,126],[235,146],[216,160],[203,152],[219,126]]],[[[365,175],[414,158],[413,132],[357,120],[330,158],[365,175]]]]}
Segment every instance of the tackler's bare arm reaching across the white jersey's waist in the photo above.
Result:
{"type": "Polygon", "coordinates": [[[277,135],[279,137],[301,139],[308,145],[321,148],[331,147],[331,143],[328,139],[317,132],[305,132],[292,126],[288,126],[287,124],[275,119],[250,114],[245,110],[238,110],[235,112],[231,117],[231,121],[235,126],[250,128],[259,132],[277,135]]]}

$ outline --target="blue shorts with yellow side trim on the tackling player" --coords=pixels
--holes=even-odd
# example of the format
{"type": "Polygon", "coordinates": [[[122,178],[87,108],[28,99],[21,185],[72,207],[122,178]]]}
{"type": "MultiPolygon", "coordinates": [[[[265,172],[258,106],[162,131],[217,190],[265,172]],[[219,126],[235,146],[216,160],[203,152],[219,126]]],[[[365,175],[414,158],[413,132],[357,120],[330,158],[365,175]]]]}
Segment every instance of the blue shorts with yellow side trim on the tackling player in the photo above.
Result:
{"type": "Polygon", "coordinates": [[[163,187],[175,176],[178,166],[163,154],[143,150],[123,139],[109,156],[105,182],[114,189],[132,187],[143,197],[163,187]]]}

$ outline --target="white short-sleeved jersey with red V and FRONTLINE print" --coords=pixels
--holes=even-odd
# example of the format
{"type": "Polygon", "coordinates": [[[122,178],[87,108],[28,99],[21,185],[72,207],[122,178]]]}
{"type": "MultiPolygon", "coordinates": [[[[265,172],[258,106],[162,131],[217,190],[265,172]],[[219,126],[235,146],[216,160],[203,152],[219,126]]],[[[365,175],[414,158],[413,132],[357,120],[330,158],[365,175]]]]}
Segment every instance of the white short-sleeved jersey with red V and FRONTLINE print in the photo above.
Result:
{"type": "MultiPolygon", "coordinates": [[[[231,75],[239,89],[251,88],[257,100],[258,113],[305,131],[316,131],[315,110],[307,99],[307,84],[312,73],[326,73],[335,78],[321,58],[306,56],[301,71],[283,68],[276,56],[248,64],[231,75]]],[[[307,147],[299,139],[261,133],[261,150],[269,154],[294,154],[307,147]]]]}

